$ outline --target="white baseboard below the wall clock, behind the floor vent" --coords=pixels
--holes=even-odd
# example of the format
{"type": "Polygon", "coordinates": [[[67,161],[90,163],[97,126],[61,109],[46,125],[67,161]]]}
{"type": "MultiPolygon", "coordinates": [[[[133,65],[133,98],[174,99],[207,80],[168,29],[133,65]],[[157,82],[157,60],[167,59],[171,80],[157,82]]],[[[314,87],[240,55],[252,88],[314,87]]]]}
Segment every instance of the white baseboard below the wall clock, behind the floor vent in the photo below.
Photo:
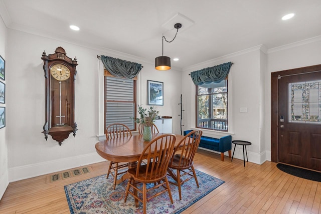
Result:
{"type": "Polygon", "coordinates": [[[105,161],[96,152],[9,168],[9,182],[105,161]]]}

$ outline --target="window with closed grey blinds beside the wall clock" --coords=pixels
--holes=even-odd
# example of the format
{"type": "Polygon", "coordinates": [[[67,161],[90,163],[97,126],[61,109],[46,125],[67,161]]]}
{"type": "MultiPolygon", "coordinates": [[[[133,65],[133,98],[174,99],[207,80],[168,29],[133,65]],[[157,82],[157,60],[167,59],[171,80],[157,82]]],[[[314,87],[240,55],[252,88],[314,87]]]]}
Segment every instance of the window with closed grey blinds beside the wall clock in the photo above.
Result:
{"type": "MultiPolygon", "coordinates": [[[[105,70],[106,73],[107,70],[105,70]]],[[[135,124],[129,117],[136,112],[136,79],[105,74],[105,129],[112,123],[123,123],[131,130],[135,124]]]]}

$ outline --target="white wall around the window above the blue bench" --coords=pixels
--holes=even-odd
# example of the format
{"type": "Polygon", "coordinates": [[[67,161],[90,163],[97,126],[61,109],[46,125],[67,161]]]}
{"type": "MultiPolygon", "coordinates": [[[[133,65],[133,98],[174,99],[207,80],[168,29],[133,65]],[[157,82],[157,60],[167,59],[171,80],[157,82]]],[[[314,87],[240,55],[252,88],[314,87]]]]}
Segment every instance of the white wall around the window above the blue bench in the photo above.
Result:
{"type": "MultiPolygon", "coordinates": [[[[261,71],[260,57],[261,46],[253,47],[244,51],[223,56],[211,61],[197,64],[184,69],[183,97],[185,116],[185,129],[195,128],[195,85],[188,75],[190,72],[202,68],[222,64],[232,61],[228,79],[228,117],[229,132],[218,132],[203,129],[203,135],[219,137],[226,134],[232,134],[232,140],[240,139],[252,142],[247,146],[249,161],[260,163],[260,100],[262,92],[260,91],[261,71]],[[241,113],[240,108],[246,107],[247,112],[241,113]]],[[[264,98],[263,98],[264,100],[264,98]]],[[[243,159],[242,147],[236,147],[234,156],[243,159]]],[[[227,153],[227,152],[226,152],[227,153]]]]}

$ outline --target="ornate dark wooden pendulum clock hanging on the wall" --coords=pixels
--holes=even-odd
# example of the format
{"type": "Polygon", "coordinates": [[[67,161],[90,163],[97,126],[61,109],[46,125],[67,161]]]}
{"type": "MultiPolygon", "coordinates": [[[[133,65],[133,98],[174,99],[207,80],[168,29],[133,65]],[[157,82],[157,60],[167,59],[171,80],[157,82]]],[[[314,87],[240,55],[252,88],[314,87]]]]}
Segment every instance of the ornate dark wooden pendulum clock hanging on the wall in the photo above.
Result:
{"type": "Polygon", "coordinates": [[[71,132],[76,135],[75,123],[75,79],[77,59],[66,55],[62,47],[47,55],[44,51],[44,71],[46,78],[46,121],[42,133],[62,144],[71,132]]]}

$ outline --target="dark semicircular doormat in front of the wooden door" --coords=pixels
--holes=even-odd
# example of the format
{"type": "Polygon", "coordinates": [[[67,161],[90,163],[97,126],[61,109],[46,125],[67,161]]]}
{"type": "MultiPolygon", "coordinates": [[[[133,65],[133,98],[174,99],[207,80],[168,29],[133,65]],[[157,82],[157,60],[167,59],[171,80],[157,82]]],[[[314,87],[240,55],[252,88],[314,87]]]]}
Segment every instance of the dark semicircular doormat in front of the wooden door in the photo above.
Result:
{"type": "Polygon", "coordinates": [[[286,165],[282,163],[276,164],[276,167],[281,171],[284,171],[288,174],[292,174],[297,177],[302,177],[308,180],[314,180],[321,182],[321,172],[312,171],[304,168],[294,167],[291,165],[286,165]]]}

